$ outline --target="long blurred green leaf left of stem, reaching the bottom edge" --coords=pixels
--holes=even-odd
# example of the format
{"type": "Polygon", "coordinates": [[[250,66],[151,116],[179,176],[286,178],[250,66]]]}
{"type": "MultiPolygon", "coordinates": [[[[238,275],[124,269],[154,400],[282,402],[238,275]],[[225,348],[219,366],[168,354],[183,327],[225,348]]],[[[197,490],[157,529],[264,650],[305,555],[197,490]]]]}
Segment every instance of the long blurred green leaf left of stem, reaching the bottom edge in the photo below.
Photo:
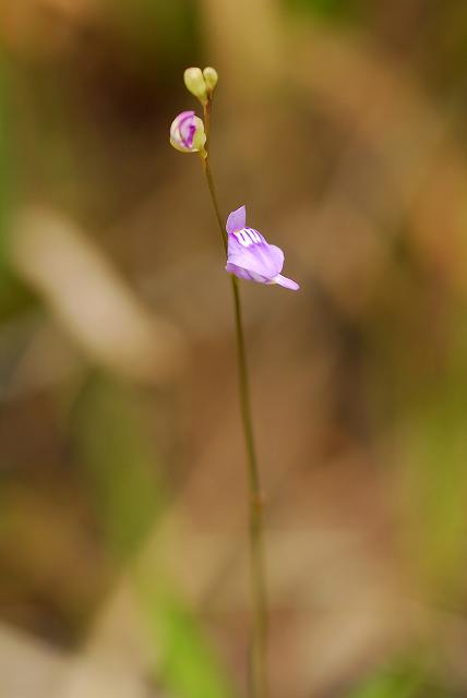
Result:
{"type": "MultiPolygon", "coordinates": [[[[139,552],[165,509],[155,446],[144,429],[143,396],[101,376],[76,408],[77,438],[89,493],[118,559],[139,552]]],[[[160,542],[164,544],[164,541],[160,542]]],[[[154,553],[154,551],[153,551],[154,553]]],[[[202,624],[155,556],[129,567],[154,649],[154,674],[176,698],[231,698],[228,674],[202,624]]]]}

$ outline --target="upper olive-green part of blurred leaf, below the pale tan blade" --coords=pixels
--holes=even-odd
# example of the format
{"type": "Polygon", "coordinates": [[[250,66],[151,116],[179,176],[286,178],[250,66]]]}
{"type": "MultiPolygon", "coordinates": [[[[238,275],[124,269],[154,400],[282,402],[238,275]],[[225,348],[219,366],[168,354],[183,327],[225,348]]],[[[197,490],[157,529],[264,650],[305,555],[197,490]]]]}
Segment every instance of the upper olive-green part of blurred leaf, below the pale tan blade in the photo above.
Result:
{"type": "Polygon", "coordinates": [[[89,494],[112,552],[135,552],[163,510],[159,464],[137,392],[98,377],[77,409],[89,494]]]}

